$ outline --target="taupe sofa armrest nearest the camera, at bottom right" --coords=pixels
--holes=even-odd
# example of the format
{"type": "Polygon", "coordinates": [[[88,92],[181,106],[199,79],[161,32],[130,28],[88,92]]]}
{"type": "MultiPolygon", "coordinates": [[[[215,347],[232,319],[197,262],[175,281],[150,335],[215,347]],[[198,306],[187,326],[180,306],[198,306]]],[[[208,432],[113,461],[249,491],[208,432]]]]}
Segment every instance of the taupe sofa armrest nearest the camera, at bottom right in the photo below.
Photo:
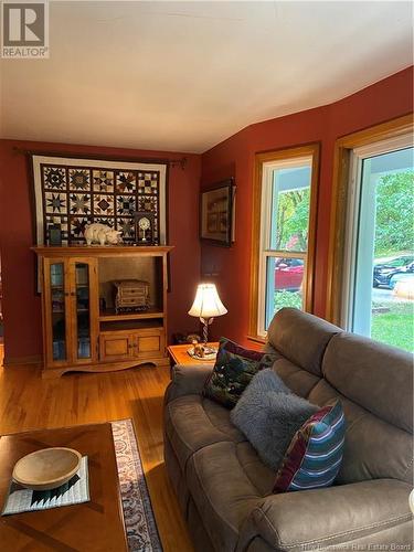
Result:
{"type": "Polygon", "coordinates": [[[412,550],[410,491],[403,481],[374,479],[269,495],[244,522],[237,552],[257,541],[288,552],[412,550]],[[380,544],[388,548],[373,548],[380,544]]]}

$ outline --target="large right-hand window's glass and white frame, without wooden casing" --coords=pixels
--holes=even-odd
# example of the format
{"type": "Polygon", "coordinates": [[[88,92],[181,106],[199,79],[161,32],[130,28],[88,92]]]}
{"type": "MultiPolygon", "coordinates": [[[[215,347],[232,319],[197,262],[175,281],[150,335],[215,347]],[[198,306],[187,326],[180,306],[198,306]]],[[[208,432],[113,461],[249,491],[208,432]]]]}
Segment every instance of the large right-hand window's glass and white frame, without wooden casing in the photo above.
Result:
{"type": "Polygon", "coordinates": [[[414,350],[412,136],[351,152],[341,325],[414,350]]]}

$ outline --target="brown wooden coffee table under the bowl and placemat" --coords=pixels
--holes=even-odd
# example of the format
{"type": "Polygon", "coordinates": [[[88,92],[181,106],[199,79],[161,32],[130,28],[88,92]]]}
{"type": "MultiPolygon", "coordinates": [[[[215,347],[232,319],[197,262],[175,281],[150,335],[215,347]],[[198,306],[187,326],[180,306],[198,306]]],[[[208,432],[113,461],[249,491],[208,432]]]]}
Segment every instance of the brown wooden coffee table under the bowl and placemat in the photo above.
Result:
{"type": "Polygon", "coordinates": [[[15,461],[29,453],[50,446],[67,446],[88,457],[91,501],[0,517],[0,549],[13,552],[127,551],[110,424],[1,437],[0,508],[4,503],[15,461]]]}

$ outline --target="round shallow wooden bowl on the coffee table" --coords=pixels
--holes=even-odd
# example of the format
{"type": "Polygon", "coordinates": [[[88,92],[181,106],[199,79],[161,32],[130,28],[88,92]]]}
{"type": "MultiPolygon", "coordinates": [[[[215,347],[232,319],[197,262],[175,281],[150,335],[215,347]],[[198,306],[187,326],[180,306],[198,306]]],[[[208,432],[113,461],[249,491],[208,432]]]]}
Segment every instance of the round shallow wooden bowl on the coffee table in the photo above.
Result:
{"type": "Polygon", "coordinates": [[[12,477],[28,489],[55,489],[76,474],[81,458],[82,455],[73,448],[42,448],[20,458],[12,477]]]}

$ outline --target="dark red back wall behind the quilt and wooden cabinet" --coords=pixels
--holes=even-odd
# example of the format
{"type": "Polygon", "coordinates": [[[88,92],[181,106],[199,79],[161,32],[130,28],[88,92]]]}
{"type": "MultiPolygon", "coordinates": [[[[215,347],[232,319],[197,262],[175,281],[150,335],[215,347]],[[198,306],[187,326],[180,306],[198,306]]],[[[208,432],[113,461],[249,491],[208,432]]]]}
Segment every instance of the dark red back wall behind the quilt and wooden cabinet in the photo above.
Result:
{"type": "Polygon", "coordinates": [[[13,148],[62,153],[114,156],[123,159],[180,159],[184,170],[169,173],[169,242],[171,293],[168,298],[170,332],[194,327],[187,315],[200,278],[198,201],[201,159],[197,155],[62,144],[0,140],[0,238],[3,283],[6,359],[35,357],[42,351],[41,302],[34,291],[34,245],[31,182],[25,156],[13,148]]]}

